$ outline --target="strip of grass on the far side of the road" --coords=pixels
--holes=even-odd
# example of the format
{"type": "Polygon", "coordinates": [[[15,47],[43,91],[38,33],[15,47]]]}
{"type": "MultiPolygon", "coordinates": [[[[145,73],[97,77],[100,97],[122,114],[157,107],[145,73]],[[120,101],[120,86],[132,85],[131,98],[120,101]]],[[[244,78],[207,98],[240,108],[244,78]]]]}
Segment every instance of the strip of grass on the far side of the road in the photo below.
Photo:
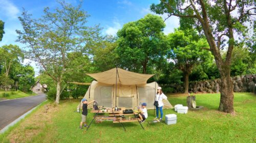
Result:
{"type": "Polygon", "coordinates": [[[5,99],[15,99],[15,98],[22,98],[22,97],[28,97],[28,96],[34,96],[36,95],[35,93],[24,93],[22,91],[7,91],[7,94],[9,96],[4,97],[5,91],[0,91],[0,98],[5,98],[5,99]]]}

